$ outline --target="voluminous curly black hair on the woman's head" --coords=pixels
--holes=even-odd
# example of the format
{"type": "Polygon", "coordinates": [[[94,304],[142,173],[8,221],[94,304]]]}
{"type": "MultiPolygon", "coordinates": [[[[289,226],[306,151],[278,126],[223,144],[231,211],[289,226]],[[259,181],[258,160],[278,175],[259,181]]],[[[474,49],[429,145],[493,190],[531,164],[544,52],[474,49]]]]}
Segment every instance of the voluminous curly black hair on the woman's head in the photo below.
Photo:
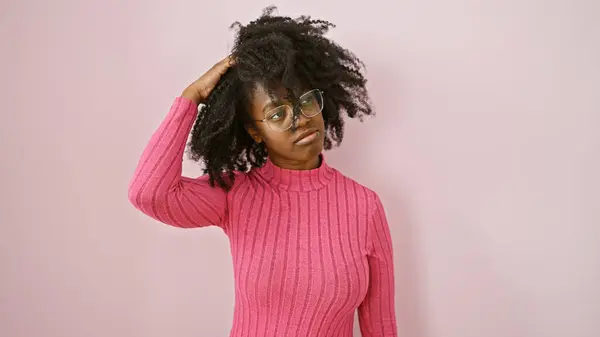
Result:
{"type": "Polygon", "coordinates": [[[190,157],[204,163],[213,187],[228,190],[234,171],[260,167],[267,159],[264,144],[246,131],[256,84],[268,92],[282,86],[288,92],[321,89],[326,150],[342,141],[342,113],[350,118],[373,114],[364,64],[324,36],[335,26],[309,16],[274,16],[275,10],[267,7],[257,20],[230,27],[238,30],[231,54],[235,65],[210,93],[192,129],[190,157]]]}

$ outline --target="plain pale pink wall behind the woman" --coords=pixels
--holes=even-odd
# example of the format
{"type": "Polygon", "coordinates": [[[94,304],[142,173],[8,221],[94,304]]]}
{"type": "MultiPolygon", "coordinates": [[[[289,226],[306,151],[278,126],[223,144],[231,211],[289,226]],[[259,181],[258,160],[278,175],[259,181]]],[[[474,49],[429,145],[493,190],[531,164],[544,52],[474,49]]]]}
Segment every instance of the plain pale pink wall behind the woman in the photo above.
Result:
{"type": "MultiPolygon", "coordinates": [[[[268,4],[2,2],[0,336],[227,336],[225,235],[150,220],[127,184],[268,4]]],[[[600,336],[600,3],[279,7],[333,21],[368,66],[378,116],[329,161],[386,206],[400,335],[600,336]]]]}

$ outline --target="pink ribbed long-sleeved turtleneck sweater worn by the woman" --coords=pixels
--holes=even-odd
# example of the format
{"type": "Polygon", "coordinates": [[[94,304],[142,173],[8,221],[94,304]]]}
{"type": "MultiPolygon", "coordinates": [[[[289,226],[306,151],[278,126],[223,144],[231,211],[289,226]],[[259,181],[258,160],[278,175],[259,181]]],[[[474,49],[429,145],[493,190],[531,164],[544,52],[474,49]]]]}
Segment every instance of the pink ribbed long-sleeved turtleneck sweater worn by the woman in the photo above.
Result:
{"type": "Polygon", "coordinates": [[[396,335],[392,245],[378,196],[329,167],[267,162],[228,193],[181,176],[197,107],[177,98],[131,181],[136,208],[177,227],[219,226],[230,240],[235,310],[230,336],[396,335]]]}

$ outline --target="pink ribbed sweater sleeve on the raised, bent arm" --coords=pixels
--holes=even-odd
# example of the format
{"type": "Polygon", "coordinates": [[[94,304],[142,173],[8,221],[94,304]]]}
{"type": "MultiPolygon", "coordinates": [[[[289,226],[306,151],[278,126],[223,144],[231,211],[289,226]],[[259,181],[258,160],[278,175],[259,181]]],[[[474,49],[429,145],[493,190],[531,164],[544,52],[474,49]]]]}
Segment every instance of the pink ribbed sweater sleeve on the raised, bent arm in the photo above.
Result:
{"type": "Polygon", "coordinates": [[[207,176],[182,177],[183,153],[197,106],[178,97],[139,160],[129,185],[129,200],[146,215],[176,227],[222,226],[226,193],[207,176]]]}

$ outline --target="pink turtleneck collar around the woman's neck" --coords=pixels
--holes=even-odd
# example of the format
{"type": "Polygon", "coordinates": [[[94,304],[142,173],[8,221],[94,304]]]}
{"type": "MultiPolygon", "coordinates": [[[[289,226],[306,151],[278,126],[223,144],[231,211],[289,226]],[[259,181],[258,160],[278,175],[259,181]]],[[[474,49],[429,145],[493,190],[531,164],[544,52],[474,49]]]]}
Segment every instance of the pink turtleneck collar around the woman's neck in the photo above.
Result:
{"type": "Polygon", "coordinates": [[[335,170],[325,162],[320,154],[321,165],[312,170],[290,170],[276,166],[270,159],[257,173],[270,185],[288,191],[308,192],[327,185],[335,176],[335,170]]]}

